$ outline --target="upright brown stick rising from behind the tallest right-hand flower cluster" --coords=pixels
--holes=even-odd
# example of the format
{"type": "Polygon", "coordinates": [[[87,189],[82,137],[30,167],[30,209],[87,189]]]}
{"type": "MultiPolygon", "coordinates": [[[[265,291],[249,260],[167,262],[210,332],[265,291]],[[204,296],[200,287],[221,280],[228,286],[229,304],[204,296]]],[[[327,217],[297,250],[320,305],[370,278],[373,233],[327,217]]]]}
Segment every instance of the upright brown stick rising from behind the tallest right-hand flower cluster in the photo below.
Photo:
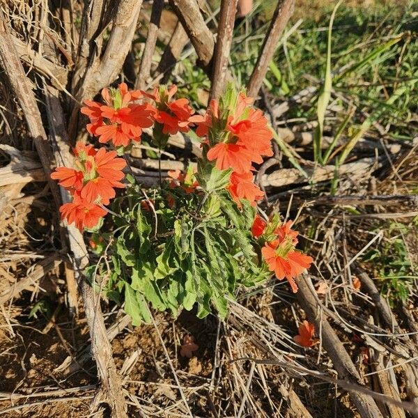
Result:
{"type": "Polygon", "coordinates": [[[215,56],[212,64],[212,86],[210,88],[210,98],[212,99],[219,99],[225,88],[237,2],[238,0],[222,0],[221,3],[215,56]]]}

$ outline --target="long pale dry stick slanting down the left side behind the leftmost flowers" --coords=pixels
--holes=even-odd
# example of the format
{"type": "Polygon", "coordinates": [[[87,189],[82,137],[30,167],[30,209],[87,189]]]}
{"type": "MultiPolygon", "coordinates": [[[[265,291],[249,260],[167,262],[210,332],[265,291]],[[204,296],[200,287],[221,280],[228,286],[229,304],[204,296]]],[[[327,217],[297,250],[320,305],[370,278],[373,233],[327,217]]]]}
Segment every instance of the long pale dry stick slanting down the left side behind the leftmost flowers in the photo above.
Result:
{"type": "MultiPolygon", "coordinates": [[[[50,164],[54,162],[54,154],[52,153],[51,148],[49,148],[47,135],[42,125],[42,118],[40,117],[35,96],[29,87],[22,63],[13,47],[13,42],[11,42],[10,36],[8,36],[8,33],[6,32],[6,26],[3,19],[0,19],[0,59],[3,70],[6,72],[10,84],[15,91],[15,95],[23,109],[29,132],[35,143],[36,150],[38,151],[42,167],[47,173],[49,187],[51,188],[58,208],[61,205],[60,190],[54,180],[49,177],[49,173],[51,172],[50,164]]],[[[66,138],[60,138],[56,144],[61,155],[69,159],[68,140],[66,138]],[[59,144],[63,143],[66,144],[66,149],[59,148],[59,144]]],[[[65,196],[63,193],[62,195],[65,196]]],[[[103,316],[100,309],[96,309],[96,295],[93,288],[88,285],[82,275],[82,270],[88,264],[88,257],[83,236],[75,226],[68,226],[68,240],[70,249],[74,255],[76,277],[79,279],[82,288],[84,310],[86,312],[87,323],[91,335],[93,355],[98,366],[100,381],[102,382],[102,392],[104,394],[103,401],[109,403],[113,417],[126,418],[126,404],[122,392],[121,381],[116,371],[111,346],[107,339],[103,316]]]]}

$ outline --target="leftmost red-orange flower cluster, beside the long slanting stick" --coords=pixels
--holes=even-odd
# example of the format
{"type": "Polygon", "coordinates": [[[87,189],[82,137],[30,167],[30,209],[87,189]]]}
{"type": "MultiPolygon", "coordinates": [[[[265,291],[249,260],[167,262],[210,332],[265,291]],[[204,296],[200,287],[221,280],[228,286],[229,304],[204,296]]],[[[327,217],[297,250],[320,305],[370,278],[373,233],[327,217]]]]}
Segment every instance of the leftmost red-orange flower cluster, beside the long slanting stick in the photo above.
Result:
{"type": "Polygon", "coordinates": [[[75,150],[77,160],[75,168],[58,167],[51,178],[68,189],[73,196],[71,203],[60,208],[63,219],[73,222],[82,231],[92,229],[100,218],[106,215],[103,205],[116,196],[115,188],[125,187],[120,180],[125,176],[126,165],[123,158],[116,157],[116,151],[104,148],[96,151],[92,146],[77,143],[75,150]]]}

